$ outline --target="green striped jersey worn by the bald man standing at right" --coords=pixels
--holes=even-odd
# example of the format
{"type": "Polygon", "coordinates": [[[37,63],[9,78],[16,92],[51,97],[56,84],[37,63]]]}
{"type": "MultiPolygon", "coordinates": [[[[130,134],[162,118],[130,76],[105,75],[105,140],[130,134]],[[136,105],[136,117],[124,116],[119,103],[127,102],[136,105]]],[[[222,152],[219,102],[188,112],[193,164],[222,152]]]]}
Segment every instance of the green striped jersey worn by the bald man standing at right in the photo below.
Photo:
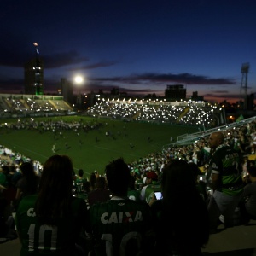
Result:
{"type": "Polygon", "coordinates": [[[225,144],[218,146],[210,161],[210,172],[220,176],[218,191],[227,195],[242,193],[241,160],[235,149],[225,144]]]}

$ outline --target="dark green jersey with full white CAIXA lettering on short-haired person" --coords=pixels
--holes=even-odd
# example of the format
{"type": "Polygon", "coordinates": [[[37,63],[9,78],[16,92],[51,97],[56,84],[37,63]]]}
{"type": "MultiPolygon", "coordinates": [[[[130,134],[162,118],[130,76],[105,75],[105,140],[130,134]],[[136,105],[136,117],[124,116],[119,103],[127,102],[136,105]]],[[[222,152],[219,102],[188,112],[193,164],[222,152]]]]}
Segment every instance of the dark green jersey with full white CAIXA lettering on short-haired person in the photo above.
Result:
{"type": "Polygon", "coordinates": [[[152,215],[143,201],[113,197],[90,207],[90,222],[97,256],[125,255],[127,250],[137,255],[152,227],[152,215]]]}

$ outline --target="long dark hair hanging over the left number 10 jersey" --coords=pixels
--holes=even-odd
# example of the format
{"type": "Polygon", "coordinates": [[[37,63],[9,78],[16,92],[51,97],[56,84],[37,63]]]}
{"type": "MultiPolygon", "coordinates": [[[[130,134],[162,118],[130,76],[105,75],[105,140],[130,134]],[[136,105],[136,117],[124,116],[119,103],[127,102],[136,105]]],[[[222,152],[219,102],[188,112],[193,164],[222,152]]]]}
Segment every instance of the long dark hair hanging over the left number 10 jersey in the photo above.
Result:
{"type": "Polygon", "coordinates": [[[36,215],[42,224],[54,225],[66,216],[73,198],[73,163],[67,155],[55,154],[44,163],[39,184],[36,215]]]}

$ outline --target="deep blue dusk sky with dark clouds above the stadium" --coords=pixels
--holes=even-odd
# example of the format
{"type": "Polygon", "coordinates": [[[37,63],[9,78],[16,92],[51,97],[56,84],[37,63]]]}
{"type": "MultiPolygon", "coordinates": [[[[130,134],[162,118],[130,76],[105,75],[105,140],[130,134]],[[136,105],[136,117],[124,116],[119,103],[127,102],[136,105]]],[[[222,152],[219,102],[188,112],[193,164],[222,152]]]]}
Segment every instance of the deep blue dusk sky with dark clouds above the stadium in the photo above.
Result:
{"type": "Polygon", "coordinates": [[[243,63],[256,93],[255,0],[1,0],[0,22],[0,93],[24,91],[34,42],[45,93],[79,74],[84,92],[164,96],[184,84],[187,96],[236,102],[243,63]]]}

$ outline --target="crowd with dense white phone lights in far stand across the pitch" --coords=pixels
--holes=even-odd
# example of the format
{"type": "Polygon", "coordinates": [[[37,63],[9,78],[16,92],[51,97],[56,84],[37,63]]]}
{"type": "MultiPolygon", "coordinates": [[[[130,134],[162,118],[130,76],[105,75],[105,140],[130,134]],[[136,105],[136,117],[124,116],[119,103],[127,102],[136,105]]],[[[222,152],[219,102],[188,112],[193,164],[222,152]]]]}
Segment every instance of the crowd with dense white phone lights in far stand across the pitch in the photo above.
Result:
{"type": "Polygon", "coordinates": [[[187,103],[184,106],[167,104],[137,104],[136,102],[102,101],[88,109],[90,116],[106,116],[114,119],[134,119],[137,121],[154,121],[159,123],[201,125],[207,128],[219,124],[222,113],[218,105],[196,105],[187,103]]]}

